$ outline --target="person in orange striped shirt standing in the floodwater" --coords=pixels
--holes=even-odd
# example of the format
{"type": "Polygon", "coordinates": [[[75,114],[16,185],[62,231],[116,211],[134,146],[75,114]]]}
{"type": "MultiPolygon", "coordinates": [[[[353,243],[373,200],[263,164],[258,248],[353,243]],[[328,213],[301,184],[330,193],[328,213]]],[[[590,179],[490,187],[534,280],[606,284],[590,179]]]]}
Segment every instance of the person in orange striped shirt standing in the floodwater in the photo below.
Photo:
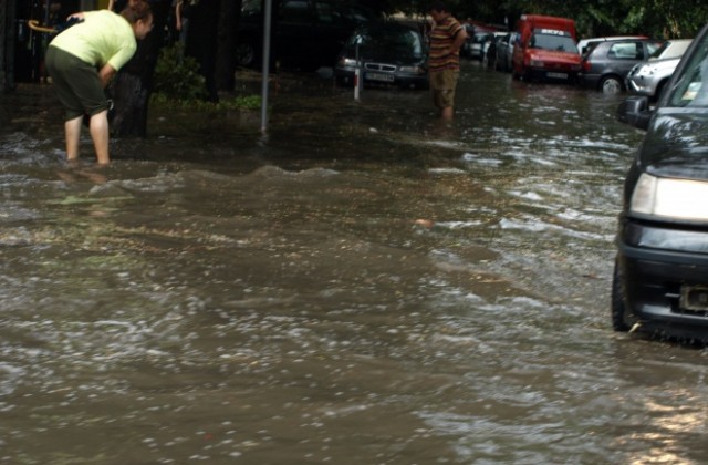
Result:
{"type": "Polygon", "coordinates": [[[440,116],[451,120],[455,112],[455,89],[460,74],[460,48],[467,39],[465,28],[452,18],[444,2],[430,7],[430,53],[428,71],[433,103],[440,116]]]}

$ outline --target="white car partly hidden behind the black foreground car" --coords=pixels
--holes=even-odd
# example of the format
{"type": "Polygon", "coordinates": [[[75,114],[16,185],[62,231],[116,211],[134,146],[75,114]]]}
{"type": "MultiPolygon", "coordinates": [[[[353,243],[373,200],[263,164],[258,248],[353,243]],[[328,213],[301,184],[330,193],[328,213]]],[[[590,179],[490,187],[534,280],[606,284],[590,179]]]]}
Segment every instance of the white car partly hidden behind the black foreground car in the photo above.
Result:
{"type": "Polygon", "coordinates": [[[627,74],[627,91],[646,95],[650,101],[658,100],[690,42],[690,39],[668,40],[647,61],[635,64],[627,74]]]}

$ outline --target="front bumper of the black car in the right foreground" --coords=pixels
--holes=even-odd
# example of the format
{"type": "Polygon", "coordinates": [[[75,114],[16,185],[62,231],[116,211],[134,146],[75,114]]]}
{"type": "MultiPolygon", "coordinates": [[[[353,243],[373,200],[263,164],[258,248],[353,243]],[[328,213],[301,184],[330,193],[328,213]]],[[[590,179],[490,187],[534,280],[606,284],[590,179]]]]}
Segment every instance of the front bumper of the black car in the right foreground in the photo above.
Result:
{"type": "Polygon", "coordinates": [[[641,328],[708,340],[708,231],[623,219],[617,246],[624,302],[641,328]]]}

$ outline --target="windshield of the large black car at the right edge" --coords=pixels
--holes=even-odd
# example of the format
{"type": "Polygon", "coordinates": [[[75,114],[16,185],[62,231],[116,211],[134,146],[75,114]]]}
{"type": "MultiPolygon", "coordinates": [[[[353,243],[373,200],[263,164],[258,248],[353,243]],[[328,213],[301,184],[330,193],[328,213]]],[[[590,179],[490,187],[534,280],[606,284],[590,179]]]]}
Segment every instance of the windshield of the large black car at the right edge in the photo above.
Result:
{"type": "Polygon", "coordinates": [[[708,34],[704,35],[669,90],[669,106],[708,107],[708,34]]]}

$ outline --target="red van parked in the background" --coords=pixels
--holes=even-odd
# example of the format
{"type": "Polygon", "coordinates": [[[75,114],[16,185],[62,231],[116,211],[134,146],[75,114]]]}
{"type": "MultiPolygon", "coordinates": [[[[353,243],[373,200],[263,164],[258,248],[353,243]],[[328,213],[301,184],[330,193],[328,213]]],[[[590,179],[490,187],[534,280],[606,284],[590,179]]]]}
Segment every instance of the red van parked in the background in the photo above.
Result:
{"type": "Polygon", "coordinates": [[[512,70],[516,79],[575,82],[581,63],[575,21],[523,14],[517,22],[517,31],[512,70]]]}

